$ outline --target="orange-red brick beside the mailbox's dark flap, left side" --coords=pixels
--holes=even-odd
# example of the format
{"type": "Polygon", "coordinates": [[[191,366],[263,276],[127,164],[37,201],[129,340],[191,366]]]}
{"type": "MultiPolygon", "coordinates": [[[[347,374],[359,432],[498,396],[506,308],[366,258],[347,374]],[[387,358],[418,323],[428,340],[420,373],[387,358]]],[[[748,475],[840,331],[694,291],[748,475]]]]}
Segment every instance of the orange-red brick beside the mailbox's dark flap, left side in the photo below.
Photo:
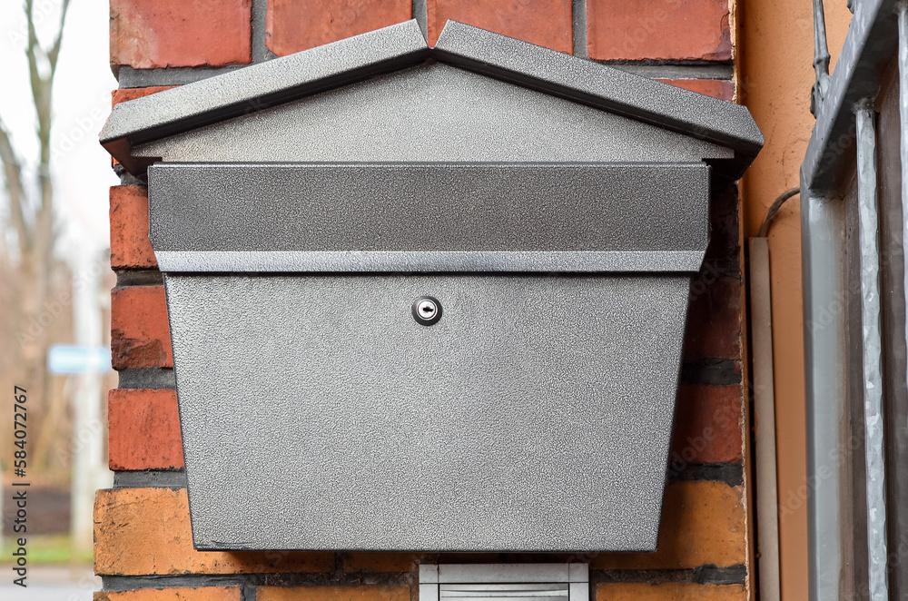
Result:
{"type": "Polygon", "coordinates": [[[111,186],[111,267],[156,269],[148,241],[148,188],[111,186]]]}

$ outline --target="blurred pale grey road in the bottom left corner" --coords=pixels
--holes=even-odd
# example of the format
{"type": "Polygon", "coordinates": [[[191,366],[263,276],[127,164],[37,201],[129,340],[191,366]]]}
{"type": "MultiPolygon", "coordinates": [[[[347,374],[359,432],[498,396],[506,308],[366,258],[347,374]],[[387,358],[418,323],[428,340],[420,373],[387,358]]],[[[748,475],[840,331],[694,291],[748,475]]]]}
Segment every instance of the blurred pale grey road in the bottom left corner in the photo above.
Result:
{"type": "Polygon", "coordinates": [[[0,599],[3,601],[91,601],[101,589],[101,578],[91,567],[29,567],[28,586],[15,586],[13,567],[0,566],[0,599]]]}

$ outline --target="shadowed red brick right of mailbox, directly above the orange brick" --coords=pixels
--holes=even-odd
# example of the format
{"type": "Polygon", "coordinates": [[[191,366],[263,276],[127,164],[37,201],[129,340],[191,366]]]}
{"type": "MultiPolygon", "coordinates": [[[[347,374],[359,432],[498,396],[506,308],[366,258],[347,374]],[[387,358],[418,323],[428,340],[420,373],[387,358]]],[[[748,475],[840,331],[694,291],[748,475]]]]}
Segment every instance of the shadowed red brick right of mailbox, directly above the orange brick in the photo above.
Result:
{"type": "Polygon", "coordinates": [[[741,463],[743,404],[740,385],[682,385],[678,390],[670,467],[741,463]]]}

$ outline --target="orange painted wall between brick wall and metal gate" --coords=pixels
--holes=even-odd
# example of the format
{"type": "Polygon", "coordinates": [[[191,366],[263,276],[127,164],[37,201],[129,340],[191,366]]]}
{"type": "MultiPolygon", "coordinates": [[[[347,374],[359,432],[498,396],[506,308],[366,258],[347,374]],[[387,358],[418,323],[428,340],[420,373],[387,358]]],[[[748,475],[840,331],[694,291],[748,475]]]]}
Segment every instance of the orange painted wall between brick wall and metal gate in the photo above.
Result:
{"type": "MultiPolygon", "coordinates": [[[[814,127],[814,21],[810,0],[740,0],[740,96],[766,136],[742,183],[745,237],[755,236],[775,198],[799,183],[814,127]]],[[[851,13],[843,0],[824,2],[833,64],[851,13]]],[[[804,498],[804,321],[801,222],[797,197],[769,233],[778,451],[782,598],[807,598],[807,510],[804,498]]]]}

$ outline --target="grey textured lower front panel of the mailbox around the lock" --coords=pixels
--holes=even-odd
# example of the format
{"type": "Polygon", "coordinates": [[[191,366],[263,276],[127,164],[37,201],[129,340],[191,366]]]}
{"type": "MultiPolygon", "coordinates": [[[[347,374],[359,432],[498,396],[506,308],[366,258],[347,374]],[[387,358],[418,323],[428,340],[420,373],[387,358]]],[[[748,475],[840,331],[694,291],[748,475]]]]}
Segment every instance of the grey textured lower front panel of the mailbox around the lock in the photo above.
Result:
{"type": "Polygon", "coordinates": [[[656,548],[689,278],[165,285],[196,547],[656,548]]]}

